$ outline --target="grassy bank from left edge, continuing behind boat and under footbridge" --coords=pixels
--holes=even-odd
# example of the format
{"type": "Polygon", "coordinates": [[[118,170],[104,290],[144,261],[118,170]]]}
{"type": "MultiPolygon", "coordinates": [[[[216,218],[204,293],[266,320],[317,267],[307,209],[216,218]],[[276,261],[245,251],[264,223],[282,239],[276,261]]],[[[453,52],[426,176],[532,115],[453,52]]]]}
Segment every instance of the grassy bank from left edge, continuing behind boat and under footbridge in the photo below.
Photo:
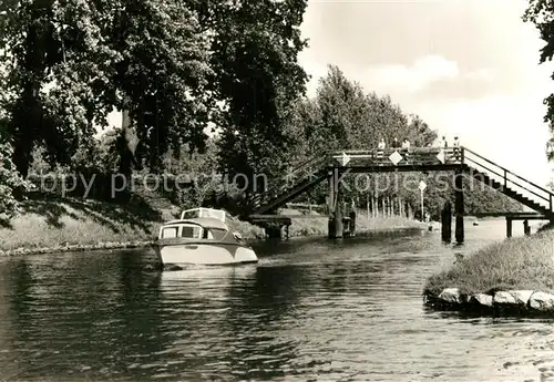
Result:
{"type": "MultiPolygon", "coordinates": [[[[3,254],[140,247],[152,242],[163,221],[175,218],[178,208],[152,208],[146,203],[117,206],[94,200],[28,200],[23,213],[0,219],[0,251],[3,254]]],[[[297,214],[294,210],[284,211],[297,214]]],[[[327,217],[293,218],[290,236],[327,235],[327,217]]],[[[368,219],[360,214],[357,231],[420,228],[421,224],[400,217],[368,219]]],[[[229,228],[246,239],[265,236],[263,228],[246,221],[230,221],[229,228]]]]}

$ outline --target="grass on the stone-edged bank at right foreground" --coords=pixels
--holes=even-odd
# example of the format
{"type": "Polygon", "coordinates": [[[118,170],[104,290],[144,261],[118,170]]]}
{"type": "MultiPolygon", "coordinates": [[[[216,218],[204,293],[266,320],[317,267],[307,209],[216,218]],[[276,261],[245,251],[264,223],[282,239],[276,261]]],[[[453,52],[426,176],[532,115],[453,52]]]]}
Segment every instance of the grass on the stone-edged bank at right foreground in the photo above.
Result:
{"type": "Polygon", "coordinates": [[[444,288],[460,288],[468,295],[510,289],[554,291],[554,231],[482,248],[430,277],[423,292],[438,296],[444,288]]]}

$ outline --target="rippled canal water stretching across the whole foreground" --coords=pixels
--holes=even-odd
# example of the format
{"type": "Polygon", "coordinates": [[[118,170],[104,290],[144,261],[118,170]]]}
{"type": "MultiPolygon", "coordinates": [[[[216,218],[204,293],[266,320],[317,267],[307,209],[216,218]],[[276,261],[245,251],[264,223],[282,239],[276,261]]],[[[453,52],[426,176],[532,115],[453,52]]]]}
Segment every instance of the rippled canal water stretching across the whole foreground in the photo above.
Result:
{"type": "MultiPolygon", "coordinates": [[[[258,244],[256,266],[145,270],[150,251],[0,260],[2,381],[545,381],[554,320],[422,306],[438,231],[258,244]]],[[[521,227],[514,234],[521,235],[521,227]]]]}

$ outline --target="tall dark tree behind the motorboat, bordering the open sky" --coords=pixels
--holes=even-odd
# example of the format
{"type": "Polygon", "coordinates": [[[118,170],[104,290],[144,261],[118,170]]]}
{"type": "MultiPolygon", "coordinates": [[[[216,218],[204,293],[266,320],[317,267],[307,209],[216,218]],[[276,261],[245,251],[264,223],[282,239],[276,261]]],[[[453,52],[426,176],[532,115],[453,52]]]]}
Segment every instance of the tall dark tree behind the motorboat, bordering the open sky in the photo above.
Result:
{"type": "MultiPolygon", "coordinates": [[[[299,25],[307,1],[248,0],[204,3],[203,22],[214,38],[211,64],[219,114],[219,159],[229,175],[277,175],[291,149],[286,124],[304,94],[298,64],[306,47],[299,25]]],[[[250,189],[252,190],[252,189],[250,189]]]]}

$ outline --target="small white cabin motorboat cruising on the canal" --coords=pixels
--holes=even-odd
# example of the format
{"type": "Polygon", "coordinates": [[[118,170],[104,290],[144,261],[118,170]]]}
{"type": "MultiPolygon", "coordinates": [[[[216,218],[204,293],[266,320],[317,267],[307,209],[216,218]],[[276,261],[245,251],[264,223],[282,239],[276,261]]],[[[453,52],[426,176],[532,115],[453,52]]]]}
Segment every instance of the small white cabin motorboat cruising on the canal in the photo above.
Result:
{"type": "Polygon", "coordinates": [[[162,265],[257,262],[254,249],[239,233],[229,230],[226,220],[224,210],[194,208],[183,211],[179,219],[165,223],[154,245],[162,265]]]}

